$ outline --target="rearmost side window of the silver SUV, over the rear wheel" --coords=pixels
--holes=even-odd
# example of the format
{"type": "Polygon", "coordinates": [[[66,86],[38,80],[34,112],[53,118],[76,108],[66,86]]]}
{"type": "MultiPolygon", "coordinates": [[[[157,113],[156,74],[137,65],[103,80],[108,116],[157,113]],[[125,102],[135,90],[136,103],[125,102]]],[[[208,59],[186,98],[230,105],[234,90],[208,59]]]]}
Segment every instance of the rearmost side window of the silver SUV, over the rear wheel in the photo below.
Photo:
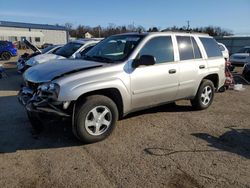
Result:
{"type": "Polygon", "coordinates": [[[218,43],[213,38],[200,37],[208,57],[222,56],[218,43]]]}

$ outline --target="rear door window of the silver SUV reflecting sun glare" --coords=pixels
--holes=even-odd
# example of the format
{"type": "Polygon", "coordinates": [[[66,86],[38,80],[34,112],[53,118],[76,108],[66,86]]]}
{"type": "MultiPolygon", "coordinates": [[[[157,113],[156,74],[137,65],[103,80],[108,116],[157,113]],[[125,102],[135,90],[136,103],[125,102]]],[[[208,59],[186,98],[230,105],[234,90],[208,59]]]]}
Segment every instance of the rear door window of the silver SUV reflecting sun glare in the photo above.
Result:
{"type": "Polygon", "coordinates": [[[193,37],[177,36],[176,38],[178,43],[180,60],[201,58],[200,49],[193,37]]]}

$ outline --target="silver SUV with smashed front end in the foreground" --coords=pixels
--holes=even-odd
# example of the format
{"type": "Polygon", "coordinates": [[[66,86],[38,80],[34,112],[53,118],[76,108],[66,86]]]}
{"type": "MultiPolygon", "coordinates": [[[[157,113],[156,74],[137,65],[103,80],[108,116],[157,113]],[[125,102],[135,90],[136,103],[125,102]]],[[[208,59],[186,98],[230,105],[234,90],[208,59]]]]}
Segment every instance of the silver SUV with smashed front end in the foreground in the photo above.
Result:
{"type": "Polygon", "coordinates": [[[180,99],[206,109],[225,81],[225,60],[205,34],[114,35],[80,60],[57,61],[25,72],[19,100],[36,130],[44,118],[70,118],[85,143],[106,138],[118,119],[141,109],[180,99]]]}

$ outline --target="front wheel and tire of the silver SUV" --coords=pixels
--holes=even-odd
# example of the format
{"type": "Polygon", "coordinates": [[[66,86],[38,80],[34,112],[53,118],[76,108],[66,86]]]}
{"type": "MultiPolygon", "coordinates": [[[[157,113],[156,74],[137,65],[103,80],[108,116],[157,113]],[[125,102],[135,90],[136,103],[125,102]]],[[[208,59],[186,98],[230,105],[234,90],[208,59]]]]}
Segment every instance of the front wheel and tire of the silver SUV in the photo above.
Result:
{"type": "Polygon", "coordinates": [[[86,98],[76,110],[73,132],[86,144],[107,138],[115,128],[118,109],[113,100],[102,95],[86,98]]]}

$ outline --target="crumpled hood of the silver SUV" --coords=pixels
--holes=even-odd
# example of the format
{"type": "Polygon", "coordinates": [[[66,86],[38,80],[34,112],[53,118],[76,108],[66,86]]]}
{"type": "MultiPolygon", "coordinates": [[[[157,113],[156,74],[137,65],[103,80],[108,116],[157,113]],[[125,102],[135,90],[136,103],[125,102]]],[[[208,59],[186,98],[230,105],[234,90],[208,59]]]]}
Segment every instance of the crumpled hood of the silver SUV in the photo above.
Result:
{"type": "Polygon", "coordinates": [[[103,63],[85,60],[50,61],[29,68],[24,79],[33,83],[49,82],[64,75],[103,66],[103,63]]]}

